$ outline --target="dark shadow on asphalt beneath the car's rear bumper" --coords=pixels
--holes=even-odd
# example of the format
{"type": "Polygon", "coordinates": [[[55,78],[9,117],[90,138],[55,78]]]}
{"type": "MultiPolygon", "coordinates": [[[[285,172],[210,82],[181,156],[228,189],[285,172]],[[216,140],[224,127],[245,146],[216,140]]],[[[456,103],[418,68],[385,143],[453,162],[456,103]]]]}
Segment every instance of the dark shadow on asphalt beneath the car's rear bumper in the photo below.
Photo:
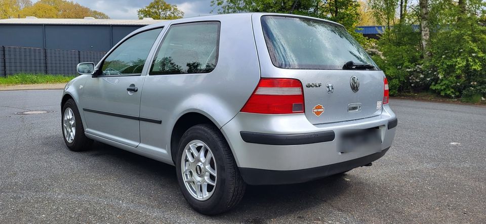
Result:
{"type": "Polygon", "coordinates": [[[290,214],[308,222],[306,216],[309,215],[307,212],[313,210],[311,208],[322,206],[346,192],[350,185],[344,176],[338,174],[292,185],[248,186],[241,203],[218,218],[225,220],[236,213],[243,213],[244,220],[239,220],[243,223],[266,223],[290,214]]]}

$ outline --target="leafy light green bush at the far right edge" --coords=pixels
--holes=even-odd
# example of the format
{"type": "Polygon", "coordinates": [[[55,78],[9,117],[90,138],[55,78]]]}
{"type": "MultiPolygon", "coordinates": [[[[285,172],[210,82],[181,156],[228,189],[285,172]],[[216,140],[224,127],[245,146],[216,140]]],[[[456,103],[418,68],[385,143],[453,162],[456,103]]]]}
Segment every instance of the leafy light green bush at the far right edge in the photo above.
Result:
{"type": "Polygon", "coordinates": [[[430,86],[441,96],[483,95],[486,89],[486,27],[464,21],[435,34],[427,67],[437,75],[430,86]]]}

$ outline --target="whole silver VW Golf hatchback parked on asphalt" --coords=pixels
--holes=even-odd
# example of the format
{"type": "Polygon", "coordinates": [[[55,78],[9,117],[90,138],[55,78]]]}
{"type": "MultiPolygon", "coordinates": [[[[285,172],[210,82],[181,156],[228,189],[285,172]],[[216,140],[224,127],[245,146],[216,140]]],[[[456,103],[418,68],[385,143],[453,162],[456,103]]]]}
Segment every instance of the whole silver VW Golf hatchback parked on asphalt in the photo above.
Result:
{"type": "Polygon", "coordinates": [[[397,119],[383,71],[340,24],[247,13],[140,28],[64,88],[72,151],[99,141],[176,166],[187,202],[234,207],[249,185],[371,165],[397,119]]]}

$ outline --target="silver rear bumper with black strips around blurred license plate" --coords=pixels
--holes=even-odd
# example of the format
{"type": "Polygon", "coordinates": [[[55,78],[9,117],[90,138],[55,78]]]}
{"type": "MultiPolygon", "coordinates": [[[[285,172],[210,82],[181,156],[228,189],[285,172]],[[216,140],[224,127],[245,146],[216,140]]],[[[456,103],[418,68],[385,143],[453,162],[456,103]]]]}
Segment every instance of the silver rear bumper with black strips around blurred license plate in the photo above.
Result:
{"type": "MultiPolygon", "coordinates": [[[[382,114],[375,117],[315,125],[311,124],[304,114],[238,113],[223,125],[221,131],[230,145],[237,166],[244,173],[245,181],[258,183],[251,180],[254,173],[267,177],[265,173],[270,171],[276,171],[276,173],[290,171],[299,173],[296,177],[290,178],[295,181],[282,180],[270,183],[298,183],[302,180],[312,180],[316,176],[332,175],[339,171],[362,166],[362,162],[356,159],[375,158],[378,155],[376,153],[380,152],[384,154],[393,142],[396,124],[395,114],[388,105],[385,105],[382,114]],[[338,146],[341,143],[342,132],[349,129],[367,128],[379,128],[382,138],[381,146],[366,150],[356,149],[346,153],[339,152],[338,146]],[[373,154],[375,155],[368,157],[373,154]],[[319,171],[309,174],[310,176],[304,175],[312,169],[320,169],[328,165],[330,167],[339,166],[335,164],[344,165],[344,167],[323,168],[328,171],[319,171]],[[247,177],[249,180],[246,180],[247,177]]],[[[370,163],[365,162],[365,164],[370,163]]],[[[271,173],[274,175],[273,172],[271,173]]]]}

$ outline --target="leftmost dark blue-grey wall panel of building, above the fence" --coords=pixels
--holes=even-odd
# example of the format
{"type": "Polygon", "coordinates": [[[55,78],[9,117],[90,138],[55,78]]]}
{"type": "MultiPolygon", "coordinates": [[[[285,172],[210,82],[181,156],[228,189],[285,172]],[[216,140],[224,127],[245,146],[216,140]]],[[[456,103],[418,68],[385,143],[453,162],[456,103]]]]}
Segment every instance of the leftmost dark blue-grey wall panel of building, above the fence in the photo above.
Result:
{"type": "Polygon", "coordinates": [[[0,25],[0,46],[43,48],[42,25],[0,25]]]}

